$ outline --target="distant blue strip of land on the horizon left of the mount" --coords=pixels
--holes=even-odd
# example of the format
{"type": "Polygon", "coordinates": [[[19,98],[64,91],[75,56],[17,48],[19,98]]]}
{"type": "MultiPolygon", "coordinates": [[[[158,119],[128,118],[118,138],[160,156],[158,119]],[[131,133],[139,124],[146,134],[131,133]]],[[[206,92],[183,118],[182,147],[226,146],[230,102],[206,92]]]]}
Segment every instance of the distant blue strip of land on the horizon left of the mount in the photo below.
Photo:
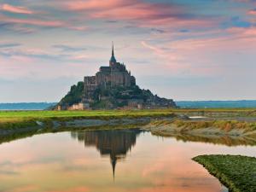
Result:
{"type": "Polygon", "coordinates": [[[0,103],[0,110],[44,110],[55,104],[56,102],[0,103]]]}

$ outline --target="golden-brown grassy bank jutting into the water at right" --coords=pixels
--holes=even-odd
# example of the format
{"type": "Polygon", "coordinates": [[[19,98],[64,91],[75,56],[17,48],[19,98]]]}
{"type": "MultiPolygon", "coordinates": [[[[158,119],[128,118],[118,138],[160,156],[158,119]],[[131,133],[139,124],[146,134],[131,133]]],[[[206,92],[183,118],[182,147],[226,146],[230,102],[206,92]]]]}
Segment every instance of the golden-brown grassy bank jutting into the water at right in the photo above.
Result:
{"type": "Polygon", "coordinates": [[[175,137],[183,142],[203,142],[236,145],[256,145],[256,129],[253,124],[239,121],[189,121],[156,120],[143,126],[161,137],[175,137]],[[215,125],[215,126],[213,126],[215,125]]]}

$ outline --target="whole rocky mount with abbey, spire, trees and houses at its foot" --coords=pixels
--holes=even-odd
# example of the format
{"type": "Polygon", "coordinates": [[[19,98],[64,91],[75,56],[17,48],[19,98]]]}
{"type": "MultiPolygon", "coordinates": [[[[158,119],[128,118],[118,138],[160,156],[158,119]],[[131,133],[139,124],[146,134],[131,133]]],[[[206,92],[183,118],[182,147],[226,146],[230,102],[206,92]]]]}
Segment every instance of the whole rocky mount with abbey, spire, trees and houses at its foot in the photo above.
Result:
{"type": "Polygon", "coordinates": [[[176,108],[172,99],[142,90],[125,64],[116,61],[112,45],[109,66],[100,67],[95,76],[73,85],[55,109],[84,110],[99,108],[176,108]]]}

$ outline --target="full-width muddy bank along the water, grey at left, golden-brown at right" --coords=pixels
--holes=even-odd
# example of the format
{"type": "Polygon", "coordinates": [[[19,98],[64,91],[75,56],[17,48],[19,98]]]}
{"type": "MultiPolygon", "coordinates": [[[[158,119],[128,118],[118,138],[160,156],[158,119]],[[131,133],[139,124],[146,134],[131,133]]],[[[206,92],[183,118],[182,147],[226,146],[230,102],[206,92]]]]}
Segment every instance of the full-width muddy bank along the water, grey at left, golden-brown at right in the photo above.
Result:
{"type": "Polygon", "coordinates": [[[228,146],[256,145],[255,122],[226,119],[192,120],[184,114],[155,118],[36,120],[25,127],[1,128],[0,143],[47,132],[130,128],[141,128],[151,131],[154,135],[175,137],[183,142],[216,143],[228,146]]]}

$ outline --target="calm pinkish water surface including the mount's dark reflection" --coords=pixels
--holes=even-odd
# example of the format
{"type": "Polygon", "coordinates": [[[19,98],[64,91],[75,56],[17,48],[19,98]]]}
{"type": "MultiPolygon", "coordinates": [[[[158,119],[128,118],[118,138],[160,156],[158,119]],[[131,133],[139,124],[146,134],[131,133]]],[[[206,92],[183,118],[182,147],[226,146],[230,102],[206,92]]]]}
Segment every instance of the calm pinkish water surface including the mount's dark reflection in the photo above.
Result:
{"type": "Polygon", "coordinates": [[[224,192],[199,154],[244,154],[255,147],[184,143],[149,132],[44,134],[0,145],[0,192],[224,192]]]}

